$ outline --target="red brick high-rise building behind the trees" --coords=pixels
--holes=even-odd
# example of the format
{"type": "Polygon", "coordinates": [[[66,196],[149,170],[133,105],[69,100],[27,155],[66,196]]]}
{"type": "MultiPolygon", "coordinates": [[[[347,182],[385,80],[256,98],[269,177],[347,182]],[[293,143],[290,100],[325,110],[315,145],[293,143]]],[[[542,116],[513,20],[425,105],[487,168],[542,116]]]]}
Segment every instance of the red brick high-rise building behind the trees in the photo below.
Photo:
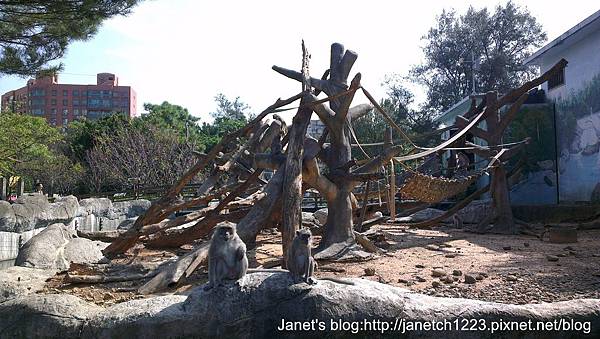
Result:
{"type": "Polygon", "coordinates": [[[55,126],[115,113],[134,117],[136,104],[133,88],[119,86],[111,73],[98,73],[95,85],[59,84],[57,75],[38,77],[2,95],[3,110],[44,117],[55,126]]]}

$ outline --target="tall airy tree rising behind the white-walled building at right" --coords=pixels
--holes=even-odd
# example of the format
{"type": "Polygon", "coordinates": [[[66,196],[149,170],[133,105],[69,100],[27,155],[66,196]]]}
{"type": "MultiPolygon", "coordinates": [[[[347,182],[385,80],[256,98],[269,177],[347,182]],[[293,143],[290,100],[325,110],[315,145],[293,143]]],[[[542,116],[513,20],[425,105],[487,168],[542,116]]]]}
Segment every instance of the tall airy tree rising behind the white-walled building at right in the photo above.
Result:
{"type": "Polygon", "coordinates": [[[546,34],[527,9],[508,1],[493,13],[473,7],[463,15],[443,11],[423,39],[425,61],[411,76],[427,89],[424,110],[442,112],[471,92],[505,93],[530,78],[523,61],[546,34]]]}

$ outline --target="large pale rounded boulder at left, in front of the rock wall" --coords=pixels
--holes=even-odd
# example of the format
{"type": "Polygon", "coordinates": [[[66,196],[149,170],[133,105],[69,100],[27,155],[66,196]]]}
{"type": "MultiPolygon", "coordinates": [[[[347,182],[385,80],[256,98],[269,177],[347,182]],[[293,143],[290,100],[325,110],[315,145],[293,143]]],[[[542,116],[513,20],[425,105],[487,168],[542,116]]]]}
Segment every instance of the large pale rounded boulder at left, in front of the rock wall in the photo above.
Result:
{"type": "Polygon", "coordinates": [[[31,238],[19,251],[15,265],[66,270],[70,263],[95,263],[103,258],[105,243],[76,238],[63,224],[52,224],[31,238]]]}

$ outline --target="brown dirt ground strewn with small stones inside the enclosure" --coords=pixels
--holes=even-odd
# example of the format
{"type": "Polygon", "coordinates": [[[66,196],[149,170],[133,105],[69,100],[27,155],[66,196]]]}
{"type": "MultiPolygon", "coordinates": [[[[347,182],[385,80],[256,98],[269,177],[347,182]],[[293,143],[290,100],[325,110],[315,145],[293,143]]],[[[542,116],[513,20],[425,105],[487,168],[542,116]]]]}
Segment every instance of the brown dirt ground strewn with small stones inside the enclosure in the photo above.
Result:
{"type": "MultiPolygon", "coordinates": [[[[320,263],[317,277],[358,277],[435,296],[509,304],[600,298],[600,230],[580,231],[573,244],[551,244],[531,236],[481,235],[439,227],[413,230],[376,225],[378,246],[387,255],[358,263],[320,263]]],[[[281,260],[281,235],[263,232],[251,266],[274,267],[281,260]]],[[[317,238],[318,240],[318,238],[317,238]]],[[[188,248],[189,249],[189,248],[188,248]]],[[[120,259],[123,267],[150,270],[185,252],[140,250],[120,259]]],[[[65,284],[51,279],[44,293],[76,294],[98,305],[144,298],[143,281],[65,284]]],[[[205,268],[170,293],[185,294],[206,282],[205,268]]]]}

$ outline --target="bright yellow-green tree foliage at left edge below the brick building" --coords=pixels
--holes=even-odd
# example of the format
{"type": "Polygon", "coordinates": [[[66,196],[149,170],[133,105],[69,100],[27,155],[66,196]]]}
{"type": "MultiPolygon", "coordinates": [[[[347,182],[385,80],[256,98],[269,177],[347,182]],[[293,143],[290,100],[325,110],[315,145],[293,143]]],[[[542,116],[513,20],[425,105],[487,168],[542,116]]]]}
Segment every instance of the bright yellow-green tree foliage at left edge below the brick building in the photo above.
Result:
{"type": "Polygon", "coordinates": [[[18,174],[18,166],[51,159],[50,145],[60,132],[45,119],[3,112],[0,114],[0,175],[18,174]]]}

